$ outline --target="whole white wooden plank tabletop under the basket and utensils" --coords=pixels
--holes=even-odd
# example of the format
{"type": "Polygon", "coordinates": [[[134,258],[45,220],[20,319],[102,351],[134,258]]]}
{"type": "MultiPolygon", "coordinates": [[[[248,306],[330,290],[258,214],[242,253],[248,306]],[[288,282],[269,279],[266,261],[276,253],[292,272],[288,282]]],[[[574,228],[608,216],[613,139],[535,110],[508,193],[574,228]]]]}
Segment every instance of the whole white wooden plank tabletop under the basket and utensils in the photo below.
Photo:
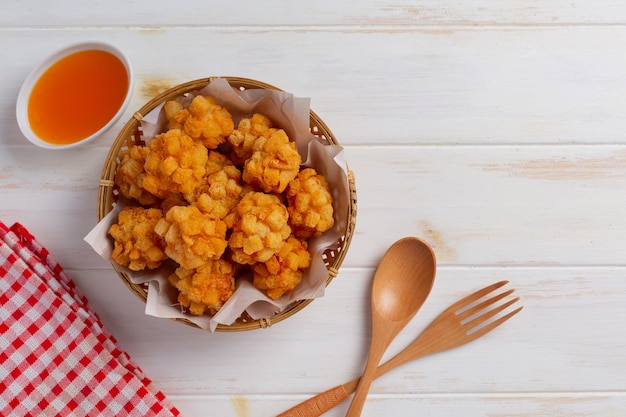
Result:
{"type": "Polygon", "coordinates": [[[433,246],[438,274],[390,352],[497,280],[525,309],[377,380],[364,415],[626,415],[625,3],[4,0],[0,51],[0,219],[48,246],[185,416],[276,415],[358,375],[376,261],[407,235],[433,246]],[[132,103],[87,146],[35,148],[17,92],[79,40],[128,54],[132,103]],[[311,97],[356,176],[339,276],[269,329],[210,334],[146,316],[83,241],[116,131],[157,93],[212,75],[311,97]]]}

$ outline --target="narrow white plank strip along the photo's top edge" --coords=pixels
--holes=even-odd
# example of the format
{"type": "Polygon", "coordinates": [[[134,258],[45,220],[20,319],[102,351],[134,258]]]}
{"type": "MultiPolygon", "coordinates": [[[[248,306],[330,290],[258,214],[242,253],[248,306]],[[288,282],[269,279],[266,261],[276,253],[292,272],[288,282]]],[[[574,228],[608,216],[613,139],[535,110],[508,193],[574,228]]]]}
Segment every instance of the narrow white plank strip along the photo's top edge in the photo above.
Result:
{"type": "Polygon", "coordinates": [[[24,2],[5,0],[2,26],[403,26],[403,25],[571,25],[624,23],[624,4],[614,0],[588,2],[487,0],[459,2],[410,0],[392,3],[318,1],[307,4],[246,0],[237,7],[222,2],[172,1],[79,3],[71,0],[24,2]]]}

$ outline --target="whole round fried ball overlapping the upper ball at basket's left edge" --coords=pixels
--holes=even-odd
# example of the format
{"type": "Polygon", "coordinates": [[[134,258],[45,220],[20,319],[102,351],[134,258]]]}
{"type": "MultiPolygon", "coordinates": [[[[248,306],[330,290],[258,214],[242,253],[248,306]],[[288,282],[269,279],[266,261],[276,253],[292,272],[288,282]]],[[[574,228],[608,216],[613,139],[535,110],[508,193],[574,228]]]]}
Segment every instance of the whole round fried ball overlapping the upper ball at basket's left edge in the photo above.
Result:
{"type": "Polygon", "coordinates": [[[148,143],[143,188],[159,198],[191,192],[206,172],[208,151],[178,129],[155,136],[148,143]]]}

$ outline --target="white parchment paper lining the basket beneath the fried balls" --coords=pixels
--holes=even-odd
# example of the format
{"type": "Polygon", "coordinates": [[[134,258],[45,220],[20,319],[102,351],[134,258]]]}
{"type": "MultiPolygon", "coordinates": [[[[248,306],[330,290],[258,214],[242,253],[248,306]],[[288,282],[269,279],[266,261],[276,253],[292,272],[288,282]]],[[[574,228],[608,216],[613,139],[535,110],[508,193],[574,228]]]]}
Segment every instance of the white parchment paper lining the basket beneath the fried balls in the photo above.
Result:
{"type": "MultiPolygon", "coordinates": [[[[146,314],[165,318],[186,318],[203,329],[215,331],[218,324],[230,325],[246,311],[253,319],[271,317],[290,303],[297,300],[318,298],[324,295],[328,271],[322,255],[324,251],[336,245],[345,234],[348,222],[350,191],[348,187],[347,165],[344,150],[339,145],[326,145],[311,134],[309,130],[309,104],[307,98],[294,97],[290,93],[249,89],[241,91],[218,78],[202,90],[189,93],[178,98],[184,105],[198,94],[213,96],[218,104],[226,107],[233,115],[235,126],[241,118],[250,117],[253,113],[268,116],[276,126],[285,130],[287,135],[296,142],[298,152],[302,156],[305,167],[312,167],[324,175],[330,185],[335,211],[335,225],[322,236],[309,240],[311,266],[302,278],[302,282],[291,293],[278,300],[272,300],[251,283],[249,277],[241,277],[233,296],[214,316],[192,316],[182,312],[176,301],[177,292],[168,282],[169,274],[174,270],[174,262],[164,264],[153,271],[133,272],[113,262],[113,241],[108,230],[117,221],[117,214],[122,204],[117,204],[85,237],[85,241],[102,256],[110,261],[113,267],[126,273],[135,284],[148,283],[146,314]]],[[[142,120],[144,139],[149,141],[156,134],[166,130],[166,120],[157,107],[142,120]]]]}

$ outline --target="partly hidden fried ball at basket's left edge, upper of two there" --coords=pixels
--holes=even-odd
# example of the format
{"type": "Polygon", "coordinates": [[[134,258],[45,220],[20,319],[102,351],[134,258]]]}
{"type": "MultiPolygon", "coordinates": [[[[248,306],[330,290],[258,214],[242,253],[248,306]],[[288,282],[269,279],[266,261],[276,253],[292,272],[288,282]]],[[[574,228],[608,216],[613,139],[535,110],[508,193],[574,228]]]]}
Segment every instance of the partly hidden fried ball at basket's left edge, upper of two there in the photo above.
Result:
{"type": "Polygon", "coordinates": [[[145,146],[131,146],[120,151],[120,163],[115,169],[115,185],[120,194],[128,199],[136,200],[144,206],[158,202],[158,198],[143,188],[146,172],[143,165],[149,149],[145,146]]]}

